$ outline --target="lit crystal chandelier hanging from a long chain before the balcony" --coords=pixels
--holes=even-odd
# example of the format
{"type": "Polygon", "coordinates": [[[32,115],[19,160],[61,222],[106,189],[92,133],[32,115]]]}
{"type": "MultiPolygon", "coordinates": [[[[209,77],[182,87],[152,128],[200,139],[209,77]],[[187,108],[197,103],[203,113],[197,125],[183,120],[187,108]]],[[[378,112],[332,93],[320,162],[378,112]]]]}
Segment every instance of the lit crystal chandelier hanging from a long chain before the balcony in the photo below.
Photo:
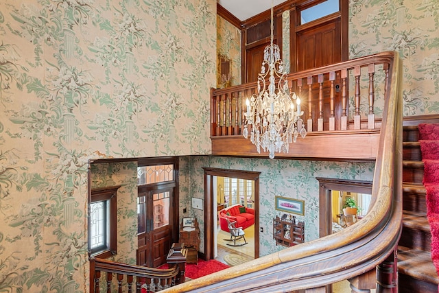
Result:
{"type": "Polygon", "coordinates": [[[287,153],[289,143],[296,142],[298,134],[302,138],[307,135],[305,125],[300,116],[300,98],[296,93],[290,93],[287,73],[283,72],[281,53],[278,45],[273,44],[273,1],[271,9],[271,38],[270,45],[263,51],[261,73],[258,74],[258,93],[246,99],[247,111],[244,114],[244,137],[256,145],[257,151],[269,152],[269,158],[274,158],[274,152],[287,153]],[[270,74],[268,82],[267,75],[270,74]],[[278,78],[277,88],[275,79],[278,78]],[[294,107],[296,102],[296,109],[294,107]],[[300,123],[299,123],[300,121],[300,123]],[[299,124],[299,126],[298,126],[299,124]],[[301,127],[300,127],[301,126],[301,127]],[[300,130],[298,130],[300,127],[300,130]]]}

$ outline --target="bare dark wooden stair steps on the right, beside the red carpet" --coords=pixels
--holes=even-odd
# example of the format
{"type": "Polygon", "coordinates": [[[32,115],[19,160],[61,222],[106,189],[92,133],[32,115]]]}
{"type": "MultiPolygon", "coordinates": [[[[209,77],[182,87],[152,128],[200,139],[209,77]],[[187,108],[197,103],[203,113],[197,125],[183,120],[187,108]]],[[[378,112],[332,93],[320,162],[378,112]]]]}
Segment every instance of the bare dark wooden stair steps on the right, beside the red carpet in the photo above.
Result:
{"type": "Polygon", "coordinates": [[[437,293],[438,274],[431,261],[424,164],[418,126],[403,128],[403,233],[398,244],[399,293],[437,293]]]}

